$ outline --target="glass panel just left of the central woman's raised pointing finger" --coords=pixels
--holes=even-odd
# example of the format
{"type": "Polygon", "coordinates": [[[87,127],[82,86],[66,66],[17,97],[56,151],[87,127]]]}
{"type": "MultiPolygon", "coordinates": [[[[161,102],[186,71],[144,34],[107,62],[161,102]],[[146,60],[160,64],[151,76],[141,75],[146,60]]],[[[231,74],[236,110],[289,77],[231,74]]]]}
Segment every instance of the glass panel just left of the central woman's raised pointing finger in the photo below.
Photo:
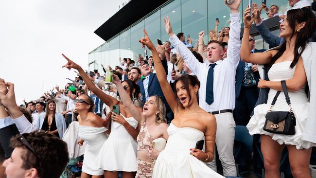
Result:
{"type": "Polygon", "coordinates": [[[144,36],[142,29],[144,28],[144,20],[141,20],[138,24],[131,28],[131,50],[132,59],[137,62],[138,55],[144,56],[144,50],[141,48],[139,42],[140,38],[144,36]]]}

